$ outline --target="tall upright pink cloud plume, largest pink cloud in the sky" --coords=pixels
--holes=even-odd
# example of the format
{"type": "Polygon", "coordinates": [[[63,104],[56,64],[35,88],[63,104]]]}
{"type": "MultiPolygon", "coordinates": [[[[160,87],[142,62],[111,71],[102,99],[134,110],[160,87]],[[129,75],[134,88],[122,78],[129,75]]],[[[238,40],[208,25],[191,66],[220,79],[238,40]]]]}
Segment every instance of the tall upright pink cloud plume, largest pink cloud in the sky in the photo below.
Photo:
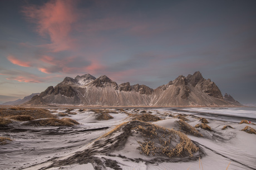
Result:
{"type": "Polygon", "coordinates": [[[37,32],[41,36],[50,36],[52,44],[45,46],[56,52],[70,49],[74,41],[69,34],[72,24],[78,19],[76,4],[77,1],[71,0],[49,1],[43,6],[25,6],[22,12],[37,24],[37,32]]]}

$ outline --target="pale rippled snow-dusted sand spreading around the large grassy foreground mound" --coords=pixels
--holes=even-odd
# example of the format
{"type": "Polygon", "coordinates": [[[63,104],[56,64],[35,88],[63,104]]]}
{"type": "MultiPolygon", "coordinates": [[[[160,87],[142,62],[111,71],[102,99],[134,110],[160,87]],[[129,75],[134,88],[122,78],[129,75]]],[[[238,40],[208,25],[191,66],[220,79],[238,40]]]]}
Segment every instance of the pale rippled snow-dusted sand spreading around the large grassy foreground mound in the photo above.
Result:
{"type": "MultiPolygon", "coordinates": [[[[229,163],[228,169],[256,169],[256,135],[241,131],[245,126],[256,129],[256,125],[239,124],[242,119],[255,122],[256,111],[253,109],[241,107],[108,110],[114,119],[99,121],[95,119],[95,112],[89,109],[74,109],[70,112],[77,114],[68,117],[78,121],[80,125],[73,127],[20,126],[17,122],[13,125],[16,128],[2,128],[0,136],[7,136],[13,141],[7,145],[0,145],[0,169],[200,169],[201,166],[204,169],[226,169],[229,163]],[[136,134],[128,137],[125,143],[121,143],[122,147],[119,145],[115,148],[110,143],[106,143],[105,146],[99,145],[103,141],[99,140],[99,137],[112,130],[115,125],[129,121],[131,114],[142,114],[141,111],[144,110],[163,119],[154,122],[156,125],[175,130],[179,130],[176,123],[179,119],[175,117],[179,114],[187,115],[186,122],[191,126],[201,123],[198,117],[208,119],[212,131],[198,128],[204,137],[188,135],[200,147],[201,153],[198,155],[201,166],[199,167],[198,157],[156,158],[140,154],[137,150],[139,144],[136,134]],[[224,125],[230,125],[234,129],[221,130],[224,125]],[[105,150],[108,148],[111,148],[111,153],[108,151],[106,154],[105,150]],[[87,153],[93,159],[81,161],[81,158],[77,157],[83,155],[86,159],[87,153]],[[97,166],[100,162],[103,164],[97,166]]],[[[59,112],[66,112],[67,109],[50,111],[57,115],[59,112]]],[[[118,131],[115,135],[121,133],[122,131],[118,131]]],[[[105,140],[107,141],[107,138],[105,140]]]]}

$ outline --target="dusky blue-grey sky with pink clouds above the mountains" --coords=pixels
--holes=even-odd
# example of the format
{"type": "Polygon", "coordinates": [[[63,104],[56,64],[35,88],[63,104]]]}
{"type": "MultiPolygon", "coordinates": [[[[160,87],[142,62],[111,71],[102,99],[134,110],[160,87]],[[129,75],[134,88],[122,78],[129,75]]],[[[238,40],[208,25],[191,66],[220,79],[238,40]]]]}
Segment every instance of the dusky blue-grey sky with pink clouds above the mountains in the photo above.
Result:
{"type": "Polygon", "coordinates": [[[66,76],[153,89],[200,71],[256,106],[256,1],[0,0],[0,104],[66,76]]]}

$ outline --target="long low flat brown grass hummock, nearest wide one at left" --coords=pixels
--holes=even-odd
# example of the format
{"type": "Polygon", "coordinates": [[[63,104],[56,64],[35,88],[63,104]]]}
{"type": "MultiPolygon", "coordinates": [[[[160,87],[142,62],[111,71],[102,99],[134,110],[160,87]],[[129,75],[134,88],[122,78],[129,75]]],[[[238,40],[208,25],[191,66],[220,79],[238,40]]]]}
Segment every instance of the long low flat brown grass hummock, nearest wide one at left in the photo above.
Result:
{"type": "Polygon", "coordinates": [[[49,119],[29,121],[25,125],[28,125],[28,126],[74,126],[75,124],[76,123],[73,123],[70,119],[67,119],[67,118],[63,118],[63,119],[49,118],[49,119]]]}

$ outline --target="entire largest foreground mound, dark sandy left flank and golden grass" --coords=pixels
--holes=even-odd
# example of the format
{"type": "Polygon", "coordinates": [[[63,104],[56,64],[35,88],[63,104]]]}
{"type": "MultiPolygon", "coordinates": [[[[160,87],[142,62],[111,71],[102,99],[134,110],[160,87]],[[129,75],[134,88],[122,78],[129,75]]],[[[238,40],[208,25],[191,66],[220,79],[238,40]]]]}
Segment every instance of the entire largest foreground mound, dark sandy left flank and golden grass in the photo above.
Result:
{"type": "MultiPolygon", "coordinates": [[[[137,149],[146,156],[156,154],[166,157],[193,157],[193,154],[199,151],[184,133],[144,121],[122,122],[98,138],[94,146],[105,141],[115,148],[122,148],[129,136],[136,138],[137,149]]],[[[113,147],[109,146],[109,148],[112,150],[113,147]]]]}

